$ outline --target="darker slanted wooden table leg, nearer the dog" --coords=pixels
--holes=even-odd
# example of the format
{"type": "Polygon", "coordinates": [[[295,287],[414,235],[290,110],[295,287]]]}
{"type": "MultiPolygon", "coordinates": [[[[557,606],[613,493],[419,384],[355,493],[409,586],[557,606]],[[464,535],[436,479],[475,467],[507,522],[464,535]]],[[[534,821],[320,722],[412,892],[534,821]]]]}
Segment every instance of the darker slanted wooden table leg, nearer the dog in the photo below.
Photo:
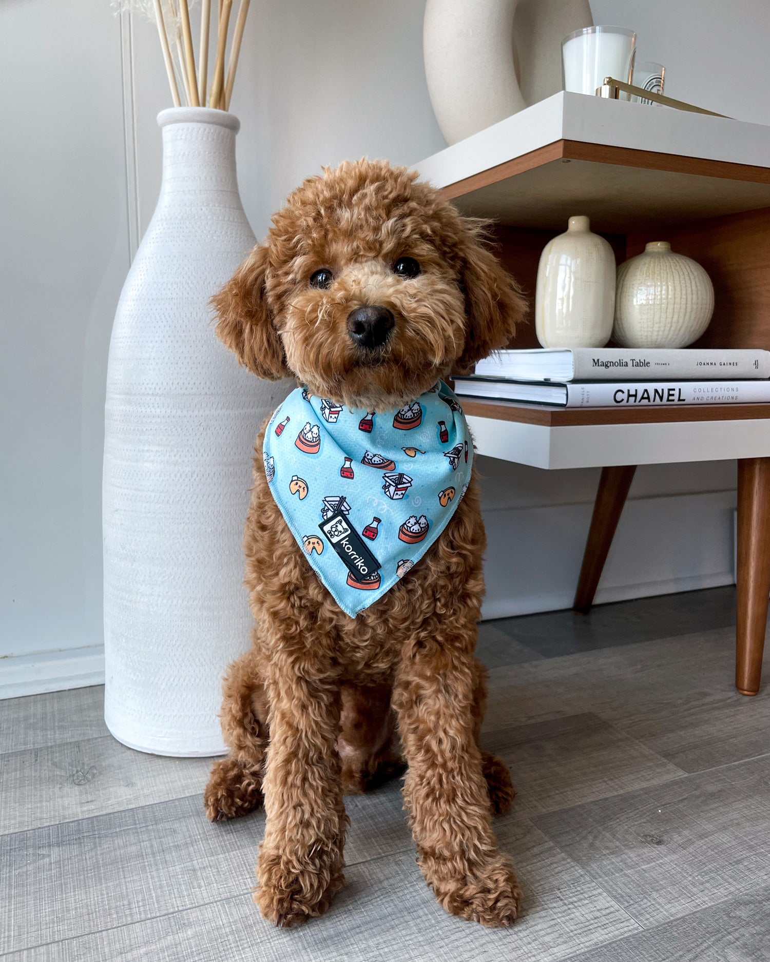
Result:
{"type": "Polygon", "coordinates": [[[583,563],[578,578],[573,609],[586,614],[594,603],[594,595],[602,577],[604,562],[615,536],[623,505],[629,494],[636,465],[621,468],[602,468],[599,490],[594,502],[594,514],[583,552],[583,563]]]}

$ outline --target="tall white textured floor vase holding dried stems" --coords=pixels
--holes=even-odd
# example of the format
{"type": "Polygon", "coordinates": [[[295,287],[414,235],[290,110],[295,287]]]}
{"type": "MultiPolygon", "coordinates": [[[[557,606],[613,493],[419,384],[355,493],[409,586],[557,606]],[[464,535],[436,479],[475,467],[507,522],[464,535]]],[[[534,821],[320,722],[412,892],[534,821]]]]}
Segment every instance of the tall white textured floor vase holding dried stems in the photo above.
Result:
{"type": "Polygon", "coordinates": [[[289,390],[218,342],[209,299],[254,244],[239,121],[159,114],[163,186],[117,306],[103,481],[105,719],[163,755],[223,750],[221,676],[249,644],[243,531],[260,422],[289,390]]]}

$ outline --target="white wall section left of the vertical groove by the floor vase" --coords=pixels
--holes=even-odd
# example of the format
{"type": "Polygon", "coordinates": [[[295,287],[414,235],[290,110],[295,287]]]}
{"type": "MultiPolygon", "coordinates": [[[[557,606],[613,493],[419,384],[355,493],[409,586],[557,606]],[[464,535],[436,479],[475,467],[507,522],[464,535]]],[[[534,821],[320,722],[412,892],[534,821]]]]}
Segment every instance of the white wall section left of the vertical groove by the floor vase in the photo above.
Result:
{"type": "MultiPolygon", "coordinates": [[[[101,643],[104,378],[129,265],[119,27],[109,5],[4,3],[0,88],[8,656],[101,643]]],[[[0,661],[0,677],[9,671],[0,661]]]]}

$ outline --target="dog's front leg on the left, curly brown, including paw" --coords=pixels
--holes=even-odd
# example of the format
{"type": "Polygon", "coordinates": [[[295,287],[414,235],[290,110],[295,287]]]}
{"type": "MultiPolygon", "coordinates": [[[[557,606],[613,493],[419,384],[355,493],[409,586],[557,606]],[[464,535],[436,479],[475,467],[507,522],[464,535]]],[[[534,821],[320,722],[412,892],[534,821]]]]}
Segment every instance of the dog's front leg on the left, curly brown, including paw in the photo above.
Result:
{"type": "Polygon", "coordinates": [[[267,688],[267,824],[254,900],[270,922],[289,926],[325,912],[344,881],[340,689],[290,658],[270,667],[267,688]]]}

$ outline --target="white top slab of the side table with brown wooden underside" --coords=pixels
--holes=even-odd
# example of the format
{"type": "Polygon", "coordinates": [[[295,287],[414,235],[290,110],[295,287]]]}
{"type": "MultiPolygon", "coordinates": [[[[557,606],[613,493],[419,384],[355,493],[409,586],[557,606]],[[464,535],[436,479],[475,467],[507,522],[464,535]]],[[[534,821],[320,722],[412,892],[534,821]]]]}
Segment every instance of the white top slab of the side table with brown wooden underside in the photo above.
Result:
{"type": "Polygon", "coordinates": [[[665,237],[677,224],[770,208],[770,127],[556,93],[416,165],[468,215],[665,237]]]}

